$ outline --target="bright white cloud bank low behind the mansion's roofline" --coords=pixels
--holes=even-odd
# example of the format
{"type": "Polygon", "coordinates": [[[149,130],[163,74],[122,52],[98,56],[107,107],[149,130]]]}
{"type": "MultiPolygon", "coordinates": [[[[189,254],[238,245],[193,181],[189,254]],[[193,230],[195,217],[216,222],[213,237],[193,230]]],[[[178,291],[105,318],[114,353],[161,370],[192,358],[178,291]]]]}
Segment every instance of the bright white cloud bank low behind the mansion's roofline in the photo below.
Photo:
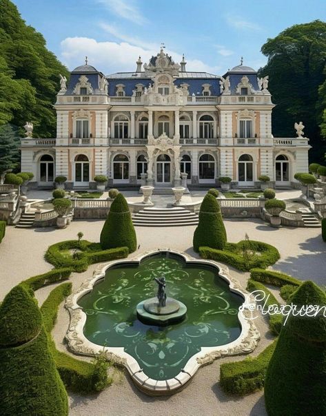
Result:
{"type": "MultiPolygon", "coordinates": [[[[138,56],[141,56],[143,63],[147,63],[151,56],[159,52],[159,48],[159,45],[151,45],[150,48],[132,45],[128,41],[98,42],[87,37],[69,37],[61,42],[61,56],[64,63],[73,69],[82,65],[87,55],[90,65],[105,74],[112,74],[136,70],[138,56]]],[[[180,62],[182,59],[181,54],[172,50],[166,49],[165,52],[171,55],[175,62],[180,62]]],[[[206,65],[198,59],[187,59],[187,70],[219,74],[221,67],[206,65]]]]}

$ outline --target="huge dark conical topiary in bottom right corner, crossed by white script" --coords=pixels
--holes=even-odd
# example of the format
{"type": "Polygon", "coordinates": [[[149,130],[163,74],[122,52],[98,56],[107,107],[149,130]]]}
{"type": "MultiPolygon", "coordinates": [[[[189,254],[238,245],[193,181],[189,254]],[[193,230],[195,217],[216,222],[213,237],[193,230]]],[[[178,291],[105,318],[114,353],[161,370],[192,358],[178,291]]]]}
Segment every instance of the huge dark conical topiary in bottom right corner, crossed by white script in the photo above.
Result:
{"type": "MultiPolygon", "coordinates": [[[[297,306],[326,306],[326,295],[304,282],[291,298],[297,306]]],[[[282,327],[265,377],[269,416],[326,415],[326,318],[293,316],[282,327]]]]}

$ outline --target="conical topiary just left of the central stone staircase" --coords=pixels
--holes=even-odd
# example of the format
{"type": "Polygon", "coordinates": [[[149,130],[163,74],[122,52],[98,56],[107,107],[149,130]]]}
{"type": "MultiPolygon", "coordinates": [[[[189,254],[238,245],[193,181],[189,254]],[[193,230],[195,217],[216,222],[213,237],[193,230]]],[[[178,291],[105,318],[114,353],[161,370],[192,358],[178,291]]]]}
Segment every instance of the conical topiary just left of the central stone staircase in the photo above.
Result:
{"type": "Polygon", "coordinates": [[[130,253],[136,250],[136,231],[123,194],[118,194],[112,202],[108,218],[101,231],[101,247],[102,249],[128,247],[130,253]]]}

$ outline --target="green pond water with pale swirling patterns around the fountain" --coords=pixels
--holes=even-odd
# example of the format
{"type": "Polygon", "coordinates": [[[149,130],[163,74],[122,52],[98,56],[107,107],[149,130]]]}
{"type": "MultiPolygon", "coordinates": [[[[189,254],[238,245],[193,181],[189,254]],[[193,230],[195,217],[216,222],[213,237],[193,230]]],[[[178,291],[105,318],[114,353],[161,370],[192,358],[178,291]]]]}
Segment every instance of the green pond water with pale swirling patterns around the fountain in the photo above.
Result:
{"type": "Polygon", "coordinates": [[[243,298],[230,292],[214,267],[185,264],[180,256],[159,253],[138,264],[118,264],[79,300],[87,315],[85,337],[94,344],[123,347],[152,379],[180,373],[202,346],[220,346],[238,338],[238,308],[243,298]],[[155,277],[165,275],[167,296],[187,306],[183,322],[146,325],[136,305],[156,296],[155,277]]]}

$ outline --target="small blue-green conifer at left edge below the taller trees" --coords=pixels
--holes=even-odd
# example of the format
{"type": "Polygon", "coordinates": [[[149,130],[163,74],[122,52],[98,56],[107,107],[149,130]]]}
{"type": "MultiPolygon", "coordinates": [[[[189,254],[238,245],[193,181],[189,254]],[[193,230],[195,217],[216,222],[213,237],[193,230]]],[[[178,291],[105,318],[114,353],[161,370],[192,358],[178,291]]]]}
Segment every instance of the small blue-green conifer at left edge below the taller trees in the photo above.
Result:
{"type": "Polygon", "coordinates": [[[12,125],[0,126],[0,175],[19,165],[19,135],[12,125]]]}

